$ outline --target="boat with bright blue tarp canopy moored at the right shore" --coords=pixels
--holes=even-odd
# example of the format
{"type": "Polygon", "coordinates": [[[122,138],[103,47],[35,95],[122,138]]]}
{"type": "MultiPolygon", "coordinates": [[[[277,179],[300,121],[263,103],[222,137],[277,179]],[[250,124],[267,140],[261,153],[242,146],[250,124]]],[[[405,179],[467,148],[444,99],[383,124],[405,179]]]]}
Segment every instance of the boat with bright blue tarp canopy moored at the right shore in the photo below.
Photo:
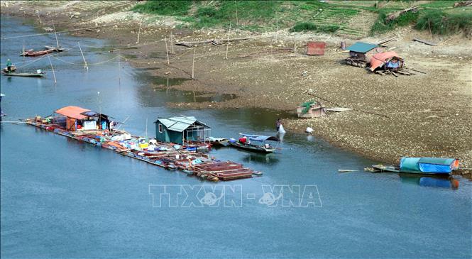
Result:
{"type": "Polygon", "coordinates": [[[459,168],[456,158],[401,158],[400,165],[372,165],[380,172],[398,172],[419,175],[449,175],[459,168]]]}

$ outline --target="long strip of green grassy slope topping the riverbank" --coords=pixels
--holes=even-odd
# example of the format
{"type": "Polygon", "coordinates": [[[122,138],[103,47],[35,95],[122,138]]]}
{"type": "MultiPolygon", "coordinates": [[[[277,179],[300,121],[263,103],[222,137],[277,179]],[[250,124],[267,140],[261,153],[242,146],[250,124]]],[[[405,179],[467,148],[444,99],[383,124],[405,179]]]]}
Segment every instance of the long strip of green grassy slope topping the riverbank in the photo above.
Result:
{"type": "MultiPolygon", "coordinates": [[[[393,31],[402,26],[415,26],[418,30],[445,34],[449,31],[471,31],[470,8],[453,9],[454,1],[412,0],[378,1],[146,1],[133,11],[175,16],[184,21],[186,28],[231,28],[236,27],[236,6],[238,28],[254,32],[275,31],[276,28],[290,28],[290,31],[314,31],[323,33],[346,33],[359,31],[367,33],[352,18],[365,12],[378,13],[378,19],[371,27],[372,35],[393,31]],[[408,6],[418,5],[418,13],[405,13],[394,21],[387,21],[390,13],[408,6]],[[464,11],[466,10],[466,11],[464,11]],[[439,12],[438,12],[439,11],[439,12]],[[428,26],[426,27],[426,23],[428,26]],[[350,24],[350,25],[348,25],[350,24]],[[356,28],[358,26],[360,29],[356,28]]],[[[362,21],[358,21],[362,23],[362,21]]]]}

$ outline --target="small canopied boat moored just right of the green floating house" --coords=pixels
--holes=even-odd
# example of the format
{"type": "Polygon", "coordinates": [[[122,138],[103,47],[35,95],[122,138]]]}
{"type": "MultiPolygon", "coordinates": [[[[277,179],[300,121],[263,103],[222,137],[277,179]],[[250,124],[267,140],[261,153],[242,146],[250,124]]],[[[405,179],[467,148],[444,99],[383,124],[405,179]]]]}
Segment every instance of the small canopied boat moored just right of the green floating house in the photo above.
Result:
{"type": "MultiPolygon", "coordinates": [[[[279,139],[275,136],[259,136],[259,135],[250,135],[250,134],[241,134],[243,138],[246,138],[247,142],[242,143],[241,140],[235,140],[231,138],[229,140],[229,145],[234,148],[240,148],[243,150],[249,150],[254,152],[260,153],[273,153],[277,147],[270,145],[269,143],[265,143],[267,140],[276,141],[279,143],[279,139]],[[255,143],[256,142],[256,143],[255,143]]],[[[278,145],[278,144],[277,144],[278,145]]]]}

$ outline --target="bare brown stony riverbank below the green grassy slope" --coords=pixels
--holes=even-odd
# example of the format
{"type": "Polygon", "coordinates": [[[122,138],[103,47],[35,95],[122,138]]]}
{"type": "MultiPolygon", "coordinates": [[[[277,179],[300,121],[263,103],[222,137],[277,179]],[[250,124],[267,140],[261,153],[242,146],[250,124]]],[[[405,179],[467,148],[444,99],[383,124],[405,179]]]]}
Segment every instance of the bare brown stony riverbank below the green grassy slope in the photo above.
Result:
{"type": "MultiPolygon", "coordinates": [[[[128,57],[131,65],[148,71],[151,76],[169,74],[169,77],[190,78],[192,75],[192,48],[173,46],[175,54],[170,55],[170,64],[166,65],[163,39],[170,36],[172,26],[178,25],[172,19],[150,23],[148,16],[119,9],[76,10],[73,5],[32,6],[29,3],[16,3],[6,8],[2,2],[1,12],[36,21],[35,10],[39,11],[40,16],[53,18],[57,31],[94,27],[71,34],[106,38],[112,40],[114,45],[126,46],[103,51],[128,57]],[[124,20],[126,18],[128,21],[124,20]],[[140,21],[143,20],[148,22],[143,23],[140,30],[140,21]]],[[[50,24],[43,21],[38,27],[50,27],[50,24]]],[[[459,158],[461,167],[472,167],[472,52],[467,48],[471,45],[471,39],[456,37],[443,45],[431,47],[411,41],[414,35],[424,38],[429,35],[411,30],[398,31],[397,35],[398,41],[388,47],[395,48],[405,57],[407,67],[426,74],[380,76],[343,65],[341,60],[346,53],[341,53],[338,46],[339,41],[346,39],[331,35],[287,32],[259,35],[238,31],[230,33],[230,38],[251,39],[232,42],[228,59],[224,58],[225,45],[196,43],[196,80],[187,80],[172,87],[234,94],[236,98],[218,103],[170,105],[192,109],[259,107],[295,111],[298,104],[315,99],[326,106],[340,105],[356,111],[309,120],[295,119],[294,115],[294,118],[284,121],[288,131],[302,132],[310,126],[317,136],[334,145],[388,163],[397,162],[401,156],[437,156],[459,158]],[[304,55],[307,40],[326,41],[326,55],[304,55]],[[294,42],[297,45],[295,53],[292,51],[294,42]]],[[[172,37],[181,42],[214,38],[223,39],[220,40],[223,42],[228,33],[224,30],[187,31],[174,28],[172,37]]],[[[374,42],[378,38],[363,40],[374,42]]],[[[354,41],[347,39],[348,44],[354,41]]],[[[471,176],[470,170],[460,173],[471,176]]]]}

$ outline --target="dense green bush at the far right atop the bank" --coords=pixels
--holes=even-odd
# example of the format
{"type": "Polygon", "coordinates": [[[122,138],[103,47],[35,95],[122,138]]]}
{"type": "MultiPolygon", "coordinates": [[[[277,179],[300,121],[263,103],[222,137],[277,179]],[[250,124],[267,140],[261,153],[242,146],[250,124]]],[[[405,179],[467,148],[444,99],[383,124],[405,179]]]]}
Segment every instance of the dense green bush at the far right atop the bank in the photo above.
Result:
{"type": "Polygon", "coordinates": [[[472,13],[444,13],[439,10],[427,11],[415,26],[417,30],[431,30],[434,34],[472,32],[472,13]]]}

